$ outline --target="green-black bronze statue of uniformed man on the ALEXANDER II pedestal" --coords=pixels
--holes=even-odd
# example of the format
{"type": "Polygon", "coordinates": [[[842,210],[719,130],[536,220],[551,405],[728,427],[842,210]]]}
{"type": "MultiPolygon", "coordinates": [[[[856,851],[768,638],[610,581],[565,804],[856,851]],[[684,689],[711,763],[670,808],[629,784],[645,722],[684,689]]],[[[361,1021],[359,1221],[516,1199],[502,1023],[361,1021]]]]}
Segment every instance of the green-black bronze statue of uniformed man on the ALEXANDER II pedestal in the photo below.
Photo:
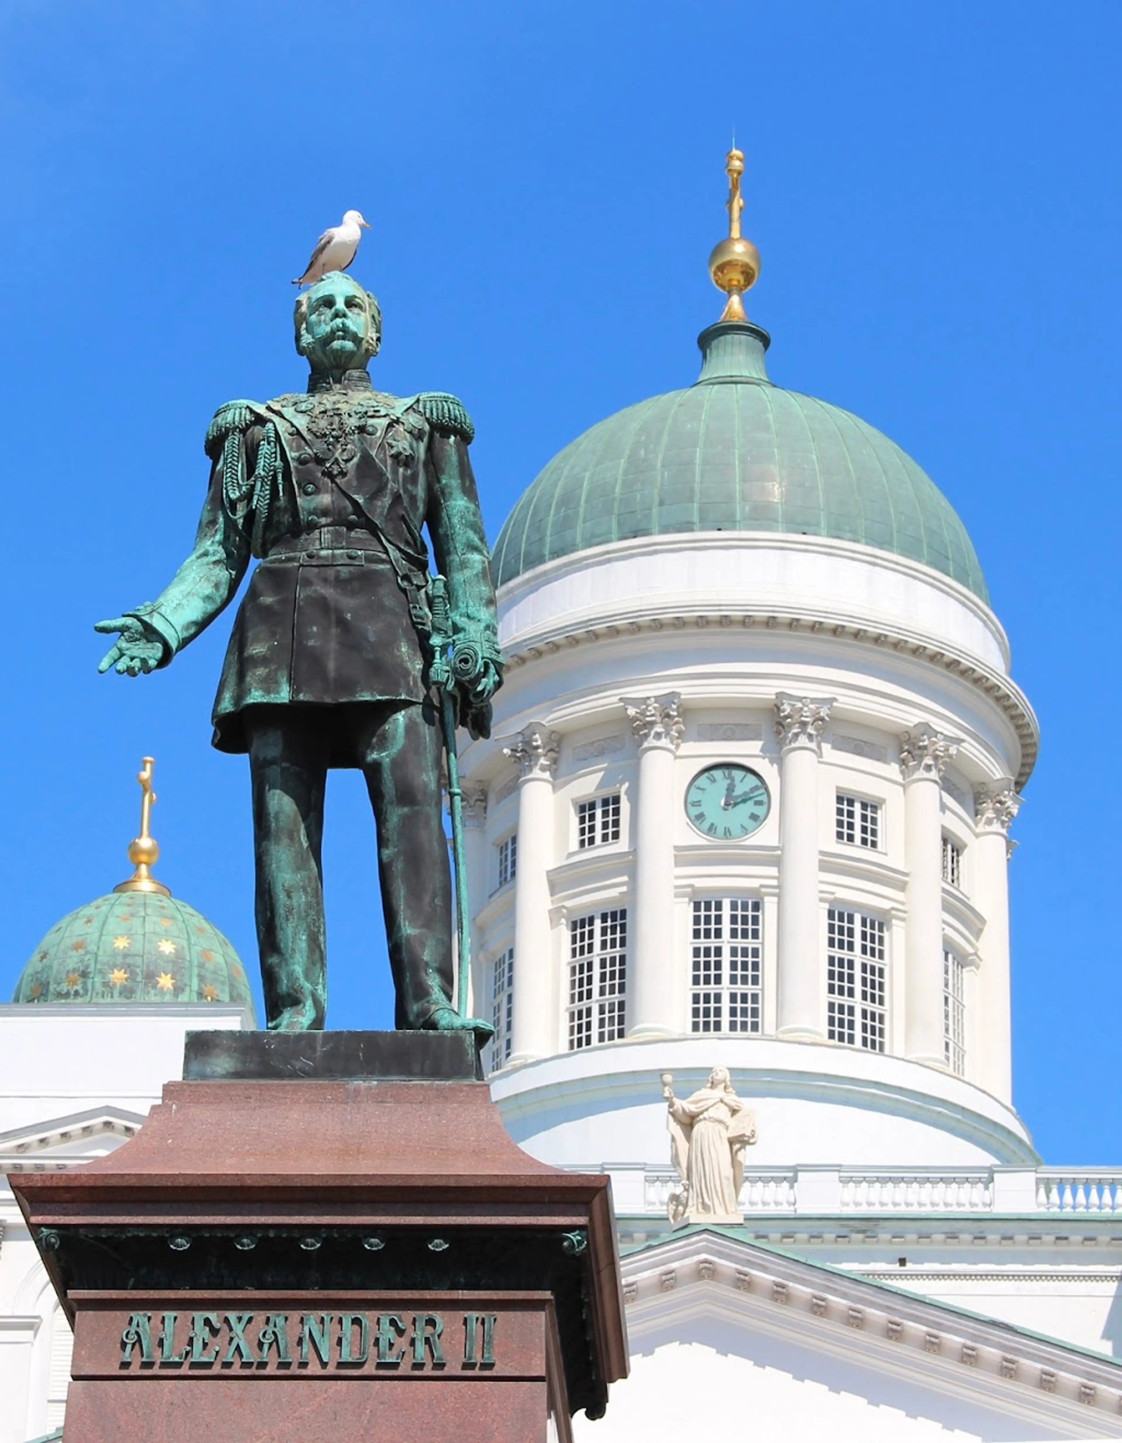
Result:
{"type": "Polygon", "coordinates": [[[377,821],[397,1026],[490,1035],[452,1006],[422,538],[426,527],[446,577],[458,720],[487,736],[501,655],[468,460],[474,429],[453,395],[373,390],[367,365],[380,342],[377,300],[341,271],[300,296],[308,391],[221,407],[206,433],[195,550],[155,602],[97,623],[120,633],[101,671],[166,667],[232,600],[256,557],[212,720],[214,745],[250,758],[269,1026],[323,1026],[323,788],[328,769],[345,766],[362,771],[377,821]]]}

